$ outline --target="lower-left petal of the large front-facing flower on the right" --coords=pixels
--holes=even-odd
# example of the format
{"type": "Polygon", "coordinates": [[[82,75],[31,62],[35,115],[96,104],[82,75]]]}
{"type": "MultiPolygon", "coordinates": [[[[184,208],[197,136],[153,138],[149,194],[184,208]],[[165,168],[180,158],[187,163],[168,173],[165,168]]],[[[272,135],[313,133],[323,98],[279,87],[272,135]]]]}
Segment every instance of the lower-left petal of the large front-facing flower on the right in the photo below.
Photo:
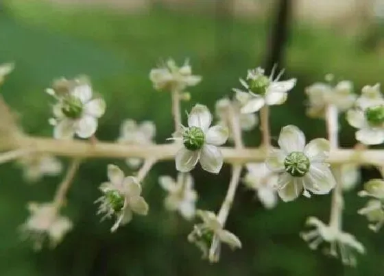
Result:
{"type": "Polygon", "coordinates": [[[302,184],[298,177],[292,177],[289,173],[283,173],[278,177],[278,195],[283,201],[293,201],[302,192],[302,184]]]}

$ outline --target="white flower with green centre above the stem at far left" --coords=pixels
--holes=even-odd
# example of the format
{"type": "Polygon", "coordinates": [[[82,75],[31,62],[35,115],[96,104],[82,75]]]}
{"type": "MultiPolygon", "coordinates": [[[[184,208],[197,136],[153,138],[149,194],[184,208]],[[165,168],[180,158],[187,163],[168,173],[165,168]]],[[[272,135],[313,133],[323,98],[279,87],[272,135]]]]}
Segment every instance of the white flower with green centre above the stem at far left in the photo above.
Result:
{"type": "Polygon", "coordinates": [[[54,125],[55,138],[70,139],[75,134],[80,138],[89,138],[95,134],[97,119],[106,110],[104,99],[93,99],[93,91],[88,81],[75,79],[56,81],[47,93],[58,101],[53,105],[53,117],[49,120],[54,125]]]}

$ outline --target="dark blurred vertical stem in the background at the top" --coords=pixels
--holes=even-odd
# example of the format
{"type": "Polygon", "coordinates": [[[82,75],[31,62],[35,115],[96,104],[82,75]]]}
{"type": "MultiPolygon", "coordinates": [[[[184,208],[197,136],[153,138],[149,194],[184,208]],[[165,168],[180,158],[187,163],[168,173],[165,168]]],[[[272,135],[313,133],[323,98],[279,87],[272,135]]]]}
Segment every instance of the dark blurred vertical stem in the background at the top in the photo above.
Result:
{"type": "Polygon", "coordinates": [[[284,60],[284,50],[289,35],[291,24],[291,0],[278,0],[278,7],[272,25],[272,34],[267,42],[267,59],[265,60],[265,71],[270,73],[274,64],[279,67],[284,60]]]}

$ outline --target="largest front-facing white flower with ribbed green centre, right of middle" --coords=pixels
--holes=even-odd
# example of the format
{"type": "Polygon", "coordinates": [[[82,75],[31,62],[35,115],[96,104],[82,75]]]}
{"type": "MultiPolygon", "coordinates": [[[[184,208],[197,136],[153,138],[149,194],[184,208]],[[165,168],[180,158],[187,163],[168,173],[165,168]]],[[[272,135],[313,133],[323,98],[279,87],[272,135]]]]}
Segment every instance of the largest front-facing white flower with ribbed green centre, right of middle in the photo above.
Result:
{"type": "Polygon", "coordinates": [[[273,150],[266,164],[278,176],[278,195],[283,201],[303,195],[323,195],[335,186],[335,178],[325,162],[329,142],[323,138],[311,140],[305,145],[305,136],[294,125],[287,125],[278,137],[280,149],[273,150]]]}

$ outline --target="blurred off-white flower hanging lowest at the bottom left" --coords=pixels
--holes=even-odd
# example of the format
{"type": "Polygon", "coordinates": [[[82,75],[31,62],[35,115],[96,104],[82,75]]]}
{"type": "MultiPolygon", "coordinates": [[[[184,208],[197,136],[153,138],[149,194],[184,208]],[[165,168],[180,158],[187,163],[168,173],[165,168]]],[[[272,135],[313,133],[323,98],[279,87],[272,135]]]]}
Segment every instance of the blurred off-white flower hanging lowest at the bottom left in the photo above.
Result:
{"type": "Polygon", "coordinates": [[[51,247],[55,247],[72,229],[69,218],[60,216],[53,203],[29,203],[27,208],[31,215],[21,225],[23,236],[34,241],[34,248],[40,249],[45,238],[49,239],[51,247]]]}

